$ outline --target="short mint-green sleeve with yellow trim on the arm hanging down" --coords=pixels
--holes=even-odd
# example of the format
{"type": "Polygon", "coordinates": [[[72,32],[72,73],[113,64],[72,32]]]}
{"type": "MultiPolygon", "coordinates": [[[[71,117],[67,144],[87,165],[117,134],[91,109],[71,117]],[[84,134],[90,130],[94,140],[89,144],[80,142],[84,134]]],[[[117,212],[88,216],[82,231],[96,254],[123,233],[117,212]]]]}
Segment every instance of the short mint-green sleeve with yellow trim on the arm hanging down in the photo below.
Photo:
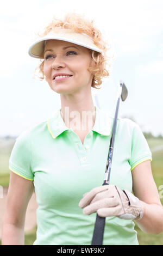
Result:
{"type": "Polygon", "coordinates": [[[30,136],[27,132],[16,139],[9,158],[9,169],[27,180],[34,180],[30,136]]]}

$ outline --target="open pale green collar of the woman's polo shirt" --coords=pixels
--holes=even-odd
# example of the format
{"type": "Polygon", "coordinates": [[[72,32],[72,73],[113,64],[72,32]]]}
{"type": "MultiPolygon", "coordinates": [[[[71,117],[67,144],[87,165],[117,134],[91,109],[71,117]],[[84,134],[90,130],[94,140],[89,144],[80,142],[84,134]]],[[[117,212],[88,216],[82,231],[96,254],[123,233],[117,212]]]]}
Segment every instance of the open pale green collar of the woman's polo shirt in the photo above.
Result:
{"type": "MultiPolygon", "coordinates": [[[[96,118],[92,131],[99,133],[101,136],[109,136],[111,131],[111,118],[108,113],[102,111],[97,106],[95,106],[95,109],[96,118]]],[[[64,120],[62,119],[61,108],[57,109],[54,117],[48,119],[47,126],[48,131],[51,133],[53,138],[56,138],[66,130],[71,130],[65,125],[64,120]]]]}

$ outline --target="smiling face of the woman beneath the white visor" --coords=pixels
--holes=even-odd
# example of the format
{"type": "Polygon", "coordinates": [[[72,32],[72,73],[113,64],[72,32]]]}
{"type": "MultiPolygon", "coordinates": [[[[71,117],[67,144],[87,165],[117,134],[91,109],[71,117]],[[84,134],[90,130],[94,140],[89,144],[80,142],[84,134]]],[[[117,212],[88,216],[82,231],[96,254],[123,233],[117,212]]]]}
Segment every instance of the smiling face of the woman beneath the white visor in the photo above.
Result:
{"type": "Polygon", "coordinates": [[[43,72],[52,90],[60,94],[91,88],[93,75],[89,68],[92,58],[88,48],[61,40],[48,40],[44,50],[43,72]],[[66,47],[66,48],[65,48],[66,47]],[[53,79],[58,73],[72,75],[64,80],[53,79]]]}

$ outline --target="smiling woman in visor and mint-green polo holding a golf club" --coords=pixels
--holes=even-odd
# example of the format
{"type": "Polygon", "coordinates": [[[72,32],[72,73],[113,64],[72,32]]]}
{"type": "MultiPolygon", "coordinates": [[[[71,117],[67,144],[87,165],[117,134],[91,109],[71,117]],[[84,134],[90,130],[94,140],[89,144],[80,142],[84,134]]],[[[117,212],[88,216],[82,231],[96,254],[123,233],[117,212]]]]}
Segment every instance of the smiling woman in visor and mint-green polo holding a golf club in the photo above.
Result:
{"type": "Polygon", "coordinates": [[[84,17],[68,14],[45,28],[29,54],[41,59],[41,79],[60,94],[61,108],[16,139],[2,244],[24,245],[34,188],[34,245],[91,245],[96,212],[106,217],[103,245],[138,245],[133,220],[145,233],[159,234],[163,209],[151,151],[129,119],[118,118],[110,185],[101,186],[113,124],[91,95],[91,87],[98,88],[101,78],[109,76],[101,32],[84,17]]]}

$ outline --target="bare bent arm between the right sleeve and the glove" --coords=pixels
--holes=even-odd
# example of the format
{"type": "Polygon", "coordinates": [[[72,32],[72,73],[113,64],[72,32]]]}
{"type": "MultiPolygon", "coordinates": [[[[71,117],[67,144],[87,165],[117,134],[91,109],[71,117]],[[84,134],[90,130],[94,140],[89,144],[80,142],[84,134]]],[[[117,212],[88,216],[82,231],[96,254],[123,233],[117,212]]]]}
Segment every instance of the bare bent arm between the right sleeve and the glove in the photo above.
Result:
{"type": "Polygon", "coordinates": [[[147,160],[132,170],[133,192],[140,199],[144,214],[136,221],[139,228],[147,234],[160,234],[163,231],[163,207],[155,185],[151,162],[147,160]]]}

